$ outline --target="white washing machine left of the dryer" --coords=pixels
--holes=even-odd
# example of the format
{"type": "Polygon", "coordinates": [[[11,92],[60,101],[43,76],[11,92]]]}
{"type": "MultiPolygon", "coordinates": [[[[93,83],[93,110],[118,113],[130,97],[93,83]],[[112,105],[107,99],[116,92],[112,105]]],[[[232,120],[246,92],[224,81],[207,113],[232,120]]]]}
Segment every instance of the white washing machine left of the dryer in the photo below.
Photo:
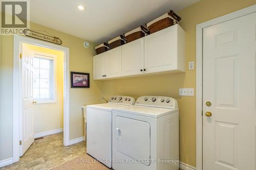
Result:
{"type": "Polygon", "coordinates": [[[112,110],[134,105],[129,96],[112,96],[108,103],[87,105],[87,153],[112,167],[112,110]]]}

